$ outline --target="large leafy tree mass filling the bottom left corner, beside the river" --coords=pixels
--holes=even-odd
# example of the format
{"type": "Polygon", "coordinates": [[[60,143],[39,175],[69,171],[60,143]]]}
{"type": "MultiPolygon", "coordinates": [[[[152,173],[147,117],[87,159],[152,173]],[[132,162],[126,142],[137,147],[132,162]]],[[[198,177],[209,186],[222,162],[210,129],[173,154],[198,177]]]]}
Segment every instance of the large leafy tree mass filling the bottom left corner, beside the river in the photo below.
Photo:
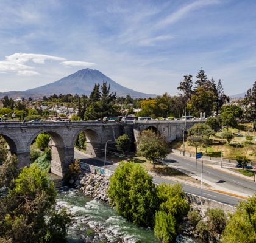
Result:
{"type": "Polygon", "coordinates": [[[67,242],[71,220],[55,210],[56,191],[37,165],[25,167],[1,199],[0,237],[13,243],[67,242]]]}

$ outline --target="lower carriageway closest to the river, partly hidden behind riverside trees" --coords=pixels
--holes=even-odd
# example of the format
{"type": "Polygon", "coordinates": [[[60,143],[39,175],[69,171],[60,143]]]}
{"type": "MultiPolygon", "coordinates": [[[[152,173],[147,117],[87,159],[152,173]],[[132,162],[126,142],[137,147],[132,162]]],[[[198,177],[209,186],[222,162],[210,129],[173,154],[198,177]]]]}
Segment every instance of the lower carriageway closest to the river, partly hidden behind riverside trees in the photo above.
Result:
{"type": "MultiPolygon", "coordinates": [[[[76,159],[81,159],[82,162],[90,163],[91,165],[103,167],[104,162],[102,160],[99,160],[97,158],[88,158],[87,155],[83,154],[82,152],[74,151],[74,157],[76,159]]],[[[114,171],[116,169],[117,165],[112,164],[110,162],[107,162],[106,168],[114,171]]],[[[160,184],[162,182],[168,183],[168,184],[175,184],[177,183],[174,180],[165,179],[158,176],[153,176],[153,182],[160,184]]],[[[201,188],[194,187],[192,185],[188,185],[186,183],[182,183],[183,190],[187,193],[195,194],[197,196],[201,196],[201,188]]],[[[229,205],[236,205],[238,202],[240,202],[243,199],[240,199],[238,197],[229,196],[222,193],[216,193],[215,191],[210,190],[204,190],[203,191],[203,197],[206,197],[208,199],[216,200],[218,202],[222,202],[223,204],[229,204],[229,205]]]]}

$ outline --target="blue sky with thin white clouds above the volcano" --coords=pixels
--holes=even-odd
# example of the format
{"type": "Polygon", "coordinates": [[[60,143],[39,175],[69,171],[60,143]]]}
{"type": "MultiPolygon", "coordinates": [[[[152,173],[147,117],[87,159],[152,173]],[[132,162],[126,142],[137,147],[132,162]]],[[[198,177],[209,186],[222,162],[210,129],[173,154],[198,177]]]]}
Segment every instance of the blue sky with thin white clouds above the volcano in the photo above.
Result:
{"type": "Polygon", "coordinates": [[[227,94],[256,80],[256,1],[0,0],[0,92],[98,69],[150,94],[202,67],[227,94]]]}

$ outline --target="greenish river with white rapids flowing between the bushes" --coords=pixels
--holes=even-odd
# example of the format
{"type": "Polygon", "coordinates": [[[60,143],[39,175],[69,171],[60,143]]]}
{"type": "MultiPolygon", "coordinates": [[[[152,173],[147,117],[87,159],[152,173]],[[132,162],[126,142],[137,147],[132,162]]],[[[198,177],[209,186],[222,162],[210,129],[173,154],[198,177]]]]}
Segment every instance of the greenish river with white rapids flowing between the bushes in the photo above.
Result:
{"type": "MultiPolygon", "coordinates": [[[[59,193],[57,208],[67,207],[74,217],[68,230],[69,243],[158,243],[149,228],[138,227],[119,216],[115,208],[99,200],[84,196],[77,190],[59,193]],[[94,233],[100,232],[100,233],[94,233]]],[[[185,236],[177,236],[176,243],[198,243],[185,236]]]]}

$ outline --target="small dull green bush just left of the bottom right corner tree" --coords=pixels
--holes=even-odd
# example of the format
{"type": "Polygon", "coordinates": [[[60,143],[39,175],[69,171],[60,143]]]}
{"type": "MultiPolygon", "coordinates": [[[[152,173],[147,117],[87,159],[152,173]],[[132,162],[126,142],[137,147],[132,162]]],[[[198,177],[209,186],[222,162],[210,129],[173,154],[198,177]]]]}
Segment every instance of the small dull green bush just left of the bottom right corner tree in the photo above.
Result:
{"type": "Polygon", "coordinates": [[[223,210],[218,208],[208,208],[205,213],[207,224],[211,233],[221,234],[226,227],[227,217],[223,210]]]}

